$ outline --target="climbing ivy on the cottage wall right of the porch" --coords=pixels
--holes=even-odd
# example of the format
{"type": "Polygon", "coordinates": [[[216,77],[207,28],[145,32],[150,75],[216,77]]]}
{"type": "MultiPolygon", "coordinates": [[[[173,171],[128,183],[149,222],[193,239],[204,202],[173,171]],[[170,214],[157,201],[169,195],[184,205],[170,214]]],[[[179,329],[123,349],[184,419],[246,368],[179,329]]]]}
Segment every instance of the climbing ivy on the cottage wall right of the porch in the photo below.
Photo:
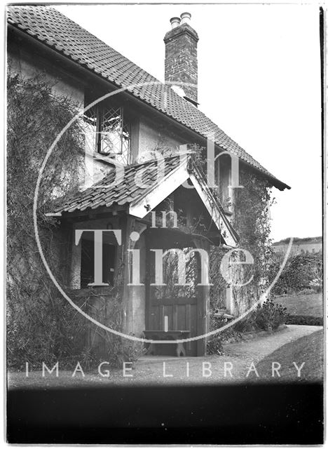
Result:
{"type": "MultiPolygon", "coordinates": [[[[192,145],[195,152],[193,159],[196,165],[206,175],[206,149],[192,145]]],[[[272,241],[270,208],[275,199],[272,197],[272,187],[268,180],[249,169],[240,168],[239,183],[242,188],[233,189],[233,227],[240,236],[238,248],[247,250],[253,257],[252,267],[240,266],[242,278],[247,281],[253,275],[253,280],[247,286],[233,288],[235,297],[235,312],[240,314],[247,310],[268,286],[272,279],[272,241]]],[[[212,189],[212,194],[220,201],[220,189],[212,189]]],[[[231,204],[231,199],[226,199],[231,204]]],[[[210,278],[213,286],[210,289],[211,309],[225,307],[224,290],[226,280],[221,276],[221,261],[227,250],[217,246],[211,247],[210,278]]],[[[278,271],[278,270],[276,270],[278,271]]]]}

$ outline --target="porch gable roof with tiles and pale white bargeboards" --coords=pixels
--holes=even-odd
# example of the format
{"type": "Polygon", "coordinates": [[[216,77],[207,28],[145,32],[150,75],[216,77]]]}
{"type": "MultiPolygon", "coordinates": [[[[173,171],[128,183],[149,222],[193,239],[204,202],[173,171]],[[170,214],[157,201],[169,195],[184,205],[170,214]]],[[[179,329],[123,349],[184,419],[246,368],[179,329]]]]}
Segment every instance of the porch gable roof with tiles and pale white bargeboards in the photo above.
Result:
{"type": "Polygon", "coordinates": [[[124,176],[119,182],[116,182],[116,170],[112,170],[95,185],[65,199],[53,213],[47,215],[68,216],[78,211],[91,212],[98,208],[124,206],[129,215],[143,218],[189,180],[226,244],[235,246],[239,240],[238,233],[228,221],[219,201],[207,187],[200,168],[186,155],[166,157],[162,163],[163,168],[160,168],[160,165],[158,167],[156,159],[125,166],[124,176]],[[159,178],[158,173],[161,175],[159,178]]]}

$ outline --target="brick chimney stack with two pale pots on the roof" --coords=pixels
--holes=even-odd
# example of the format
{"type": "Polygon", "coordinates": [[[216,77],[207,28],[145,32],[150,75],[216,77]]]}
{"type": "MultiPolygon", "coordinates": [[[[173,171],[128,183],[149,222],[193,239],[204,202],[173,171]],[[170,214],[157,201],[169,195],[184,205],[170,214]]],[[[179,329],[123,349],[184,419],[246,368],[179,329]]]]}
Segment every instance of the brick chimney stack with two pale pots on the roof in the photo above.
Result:
{"type": "Polygon", "coordinates": [[[180,18],[170,20],[172,29],[164,37],[165,81],[191,83],[191,86],[178,86],[184,90],[186,100],[197,106],[198,34],[189,25],[190,18],[190,13],[182,13],[180,18]]]}

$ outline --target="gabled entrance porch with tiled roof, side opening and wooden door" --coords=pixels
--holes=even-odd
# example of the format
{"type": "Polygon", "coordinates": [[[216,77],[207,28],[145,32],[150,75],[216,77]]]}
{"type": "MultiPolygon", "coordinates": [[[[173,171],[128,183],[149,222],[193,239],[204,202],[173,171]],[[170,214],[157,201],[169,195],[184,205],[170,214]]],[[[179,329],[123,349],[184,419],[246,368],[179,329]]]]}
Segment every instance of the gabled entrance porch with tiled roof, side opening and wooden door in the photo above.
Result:
{"type": "MultiPolygon", "coordinates": [[[[130,166],[121,185],[108,188],[111,173],[50,215],[67,229],[67,282],[90,316],[126,335],[193,338],[209,330],[210,247],[233,248],[238,234],[188,158],[165,163],[160,182],[157,161],[130,166]],[[142,176],[146,187],[136,187],[142,176]]],[[[227,307],[233,314],[230,297],[227,307]]],[[[89,327],[88,342],[106,354],[104,332],[89,327]]],[[[167,343],[157,352],[176,350],[167,343]]],[[[206,338],[185,342],[182,353],[204,356],[206,338]]]]}

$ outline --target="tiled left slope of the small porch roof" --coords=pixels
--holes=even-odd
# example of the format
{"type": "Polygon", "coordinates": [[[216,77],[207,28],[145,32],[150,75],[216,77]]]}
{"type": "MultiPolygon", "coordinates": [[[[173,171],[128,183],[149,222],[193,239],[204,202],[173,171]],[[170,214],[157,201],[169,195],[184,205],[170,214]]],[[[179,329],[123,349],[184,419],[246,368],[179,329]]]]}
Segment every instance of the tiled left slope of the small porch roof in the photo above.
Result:
{"type": "MultiPolygon", "coordinates": [[[[165,176],[179,167],[179,156],[165,158],[165,176]]],[[[114,187],[116,170],[112,170],[101,181],[92,187],[78,192],[71,198],[67,199],[59,208],[55,209],[55,213],[74,212],[76,210],[97,209],[102,206],[110,207],[113,204],[123,206],[142,199],[149,192],[151,187],[158,182],[158,165],[156,160],[146,161],[135,165],[125,166],[124,177],[114,187]],[[143,173],[142,173],[143,172],[143,173]],[[142,183],[147,188],[142,188],[135,182],[135,177],[142,175],[142,183]]]]}

